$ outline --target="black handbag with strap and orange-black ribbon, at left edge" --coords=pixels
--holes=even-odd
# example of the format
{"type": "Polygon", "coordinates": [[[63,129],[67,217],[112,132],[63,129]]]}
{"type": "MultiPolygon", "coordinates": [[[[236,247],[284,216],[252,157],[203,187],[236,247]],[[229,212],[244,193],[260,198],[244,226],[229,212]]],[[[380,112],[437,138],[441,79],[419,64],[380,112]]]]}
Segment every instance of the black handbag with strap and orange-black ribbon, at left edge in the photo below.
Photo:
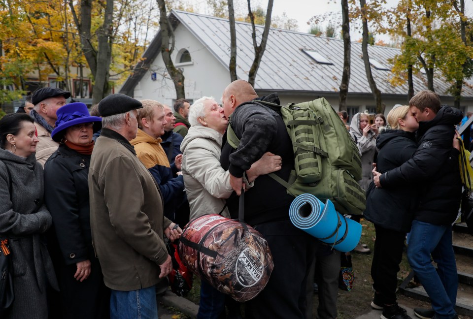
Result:
{"type": "MultiPolygon", "coordinates": [[[[10,201],[12,201],[12,181],[8,167],[5,165],[9,178],[10,201]]],[[[13,304],[13,266],[8,245],[8,237],[0,237],[0,317],[3,317],[13,304]]]]}

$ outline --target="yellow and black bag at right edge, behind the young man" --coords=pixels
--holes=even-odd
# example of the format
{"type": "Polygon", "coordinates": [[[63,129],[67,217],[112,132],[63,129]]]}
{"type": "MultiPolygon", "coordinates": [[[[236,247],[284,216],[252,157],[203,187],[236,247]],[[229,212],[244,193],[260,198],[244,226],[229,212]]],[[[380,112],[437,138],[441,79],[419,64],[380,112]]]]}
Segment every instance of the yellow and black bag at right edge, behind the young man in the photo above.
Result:
{"type": "Polygon", "coordinates": [[[461,212],[468,228],[473,228],[473,168],[469,161],[470,152],[465,149],[465,145],[461,138],[457,137],[457,140],[460,142],[460,176],[465,188],[462,193],[461,212]]]}

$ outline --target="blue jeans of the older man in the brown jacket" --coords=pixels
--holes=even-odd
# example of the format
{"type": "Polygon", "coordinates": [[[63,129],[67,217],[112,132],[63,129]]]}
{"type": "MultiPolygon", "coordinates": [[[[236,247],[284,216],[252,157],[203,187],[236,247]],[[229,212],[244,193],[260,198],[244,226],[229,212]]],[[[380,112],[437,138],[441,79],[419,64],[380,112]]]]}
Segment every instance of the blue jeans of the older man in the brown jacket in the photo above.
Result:
{"type": "Polygon", "coordinates": [[[110,319],[158,319],[155,286],[132,291],[111,289],[110,319]]]}

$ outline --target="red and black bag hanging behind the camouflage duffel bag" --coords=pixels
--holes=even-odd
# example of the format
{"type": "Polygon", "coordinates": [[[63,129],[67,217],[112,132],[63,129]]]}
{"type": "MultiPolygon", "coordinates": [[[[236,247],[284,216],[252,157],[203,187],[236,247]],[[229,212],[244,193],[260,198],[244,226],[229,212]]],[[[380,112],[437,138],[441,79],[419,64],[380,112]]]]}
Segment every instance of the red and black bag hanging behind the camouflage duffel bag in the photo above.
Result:
{"type": "Polygon", "coordinates": [[[192,288],[192,272],[182,263],[177,252],[178,240],[166,243],[166,248],[172,259],[172,269],[168,275],[171,291],[178,296],[186,296],[192,288]]]}

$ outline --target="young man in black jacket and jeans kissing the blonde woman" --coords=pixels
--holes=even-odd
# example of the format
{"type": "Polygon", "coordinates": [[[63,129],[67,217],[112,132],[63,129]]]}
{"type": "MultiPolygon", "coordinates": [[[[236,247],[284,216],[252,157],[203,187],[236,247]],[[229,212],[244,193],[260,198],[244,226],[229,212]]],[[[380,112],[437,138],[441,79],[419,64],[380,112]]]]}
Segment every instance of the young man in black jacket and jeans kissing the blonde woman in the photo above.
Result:
{"type": "MultiPolygon", "coordinates": [[[[421,91],[409,101],[419,122],[417,151],[412,159],[386,173],[374,173],[376,187],[402,187],[418,184],[420,193],[410,231],[407,259],[428,293],[437,319],[458,318],[455,302],[458,275],[452,248],[452,223],[460,206],[462,184],[458,150],[452,146],[455,124],[461,121],[458,109],[441,106],[439,96],[421,91]],[[431,262],[431,255],[438,271],[431,262]]],[[[414,313],[427,317],[428,311],[414,313]]],[[[429,316],[429,317],[430,317],[429,316]]]]}

